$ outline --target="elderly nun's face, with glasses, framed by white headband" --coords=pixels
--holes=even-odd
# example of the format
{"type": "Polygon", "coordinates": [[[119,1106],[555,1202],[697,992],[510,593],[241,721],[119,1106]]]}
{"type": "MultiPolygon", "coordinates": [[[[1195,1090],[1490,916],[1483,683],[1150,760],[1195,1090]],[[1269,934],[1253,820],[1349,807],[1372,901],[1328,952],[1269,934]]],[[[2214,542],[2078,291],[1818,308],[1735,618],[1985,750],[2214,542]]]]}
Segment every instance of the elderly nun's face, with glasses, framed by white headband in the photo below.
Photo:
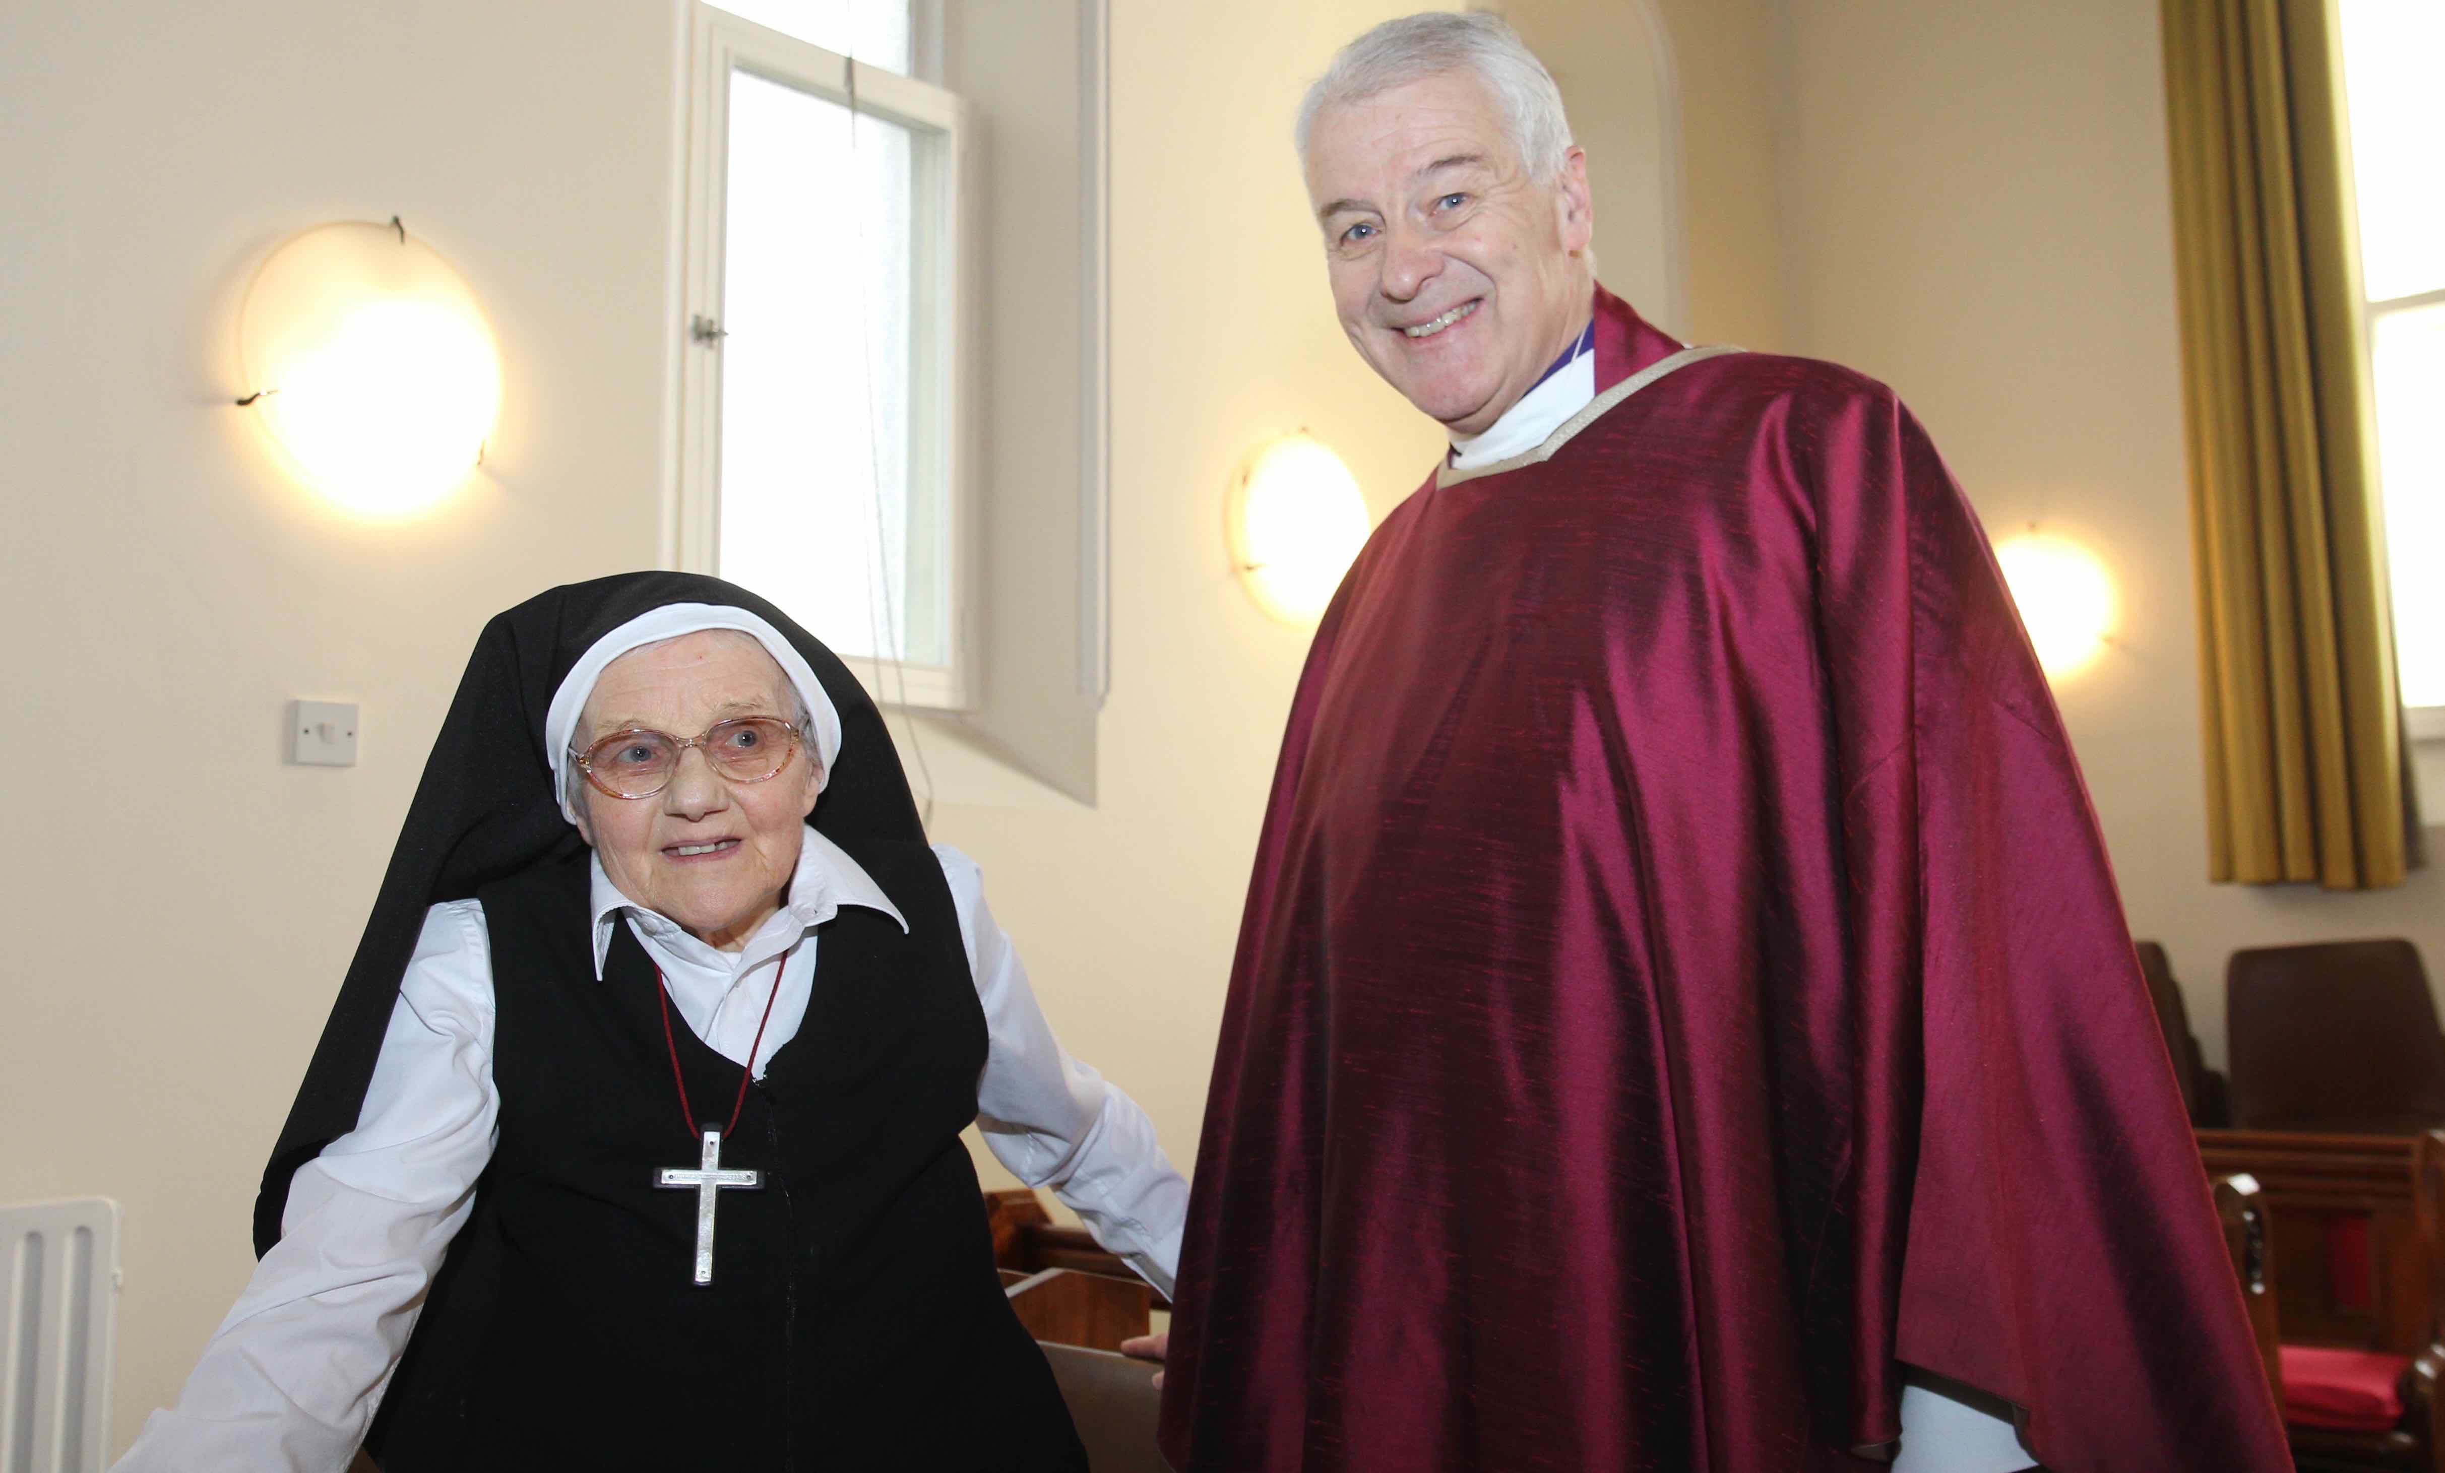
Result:
{"type": "MultiPolygon", "coordinates": [[[[628,728],[692,738],[734,716],[790,721],[792,711],[790,677],[763,645],[738,630],[699,630],[606,664],[575,745],[628,728]]],[[[814,794],[814,752],[804,745],[765,782],[729,782],[702,747],[687,747],[670,787],[650,799],[587,789],[577,831],[621,894],[707,945],[738,950],[787,897],[814,794]]]]}

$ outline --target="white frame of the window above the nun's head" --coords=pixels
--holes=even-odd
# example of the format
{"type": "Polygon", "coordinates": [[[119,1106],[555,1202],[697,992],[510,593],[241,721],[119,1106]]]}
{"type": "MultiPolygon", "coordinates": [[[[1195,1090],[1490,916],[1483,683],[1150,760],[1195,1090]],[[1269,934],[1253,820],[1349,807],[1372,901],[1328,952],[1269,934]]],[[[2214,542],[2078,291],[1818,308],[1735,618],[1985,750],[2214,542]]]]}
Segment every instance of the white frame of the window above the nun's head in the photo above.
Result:
{"type": "MultiPolygon", "coordinates": [[[[721,261],[729,217],[729,105],[731,73],[748,71],[773,83],[826,98],[858,115],[880,117],[936,137],[936,188],[912,203],[919,213],[919,239],[932,225],[934,252],[922,271],[912,271],[912,313],[917,332],[932,340],[932,364],[912,384],[910,396],[910,479],[934,471],[941,486],[932,557],[946,569],[946,647],[941,664],[883,657],[851,657],[844,664],[870,696],[890,706],[924,711],[966,711],[978,696],[978,508],[976,452],[971,427],[971,320],[973,256],[968,200],[973,149],[966,103],[939,85],[914,81],[863,61],[851,61],[797,37],[741,20],[692,0],[689,68],[689,147],[687,147],[687,266],[682,283],[682,369],[680,369],[680,484],[677,484],[677,564],[687,572],[719,574],[721,555],[721,261]],[[853,78],[853,95],[851,95],[853,78]]],[[[927,39],[919,29],[917,49],[927,39]]],[[[912,518],[914,523],[917,518],[912,518]]],[[[912,552],[912,564],[919,562],[912,552]]]]}

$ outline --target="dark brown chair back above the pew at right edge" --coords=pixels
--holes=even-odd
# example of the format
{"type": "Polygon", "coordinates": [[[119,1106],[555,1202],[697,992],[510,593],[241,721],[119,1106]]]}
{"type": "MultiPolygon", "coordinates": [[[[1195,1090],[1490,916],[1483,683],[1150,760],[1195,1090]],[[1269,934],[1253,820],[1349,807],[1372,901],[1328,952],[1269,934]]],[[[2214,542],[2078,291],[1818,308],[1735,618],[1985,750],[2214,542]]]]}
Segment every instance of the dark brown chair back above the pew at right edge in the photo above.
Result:
{"type": "Polygon", "coordinates": [[[2445,1033],[2408,940],[2237,950],[2225,1026],[2235,1126],[2418,1136],[2445,1121],[2445,1033]]]}

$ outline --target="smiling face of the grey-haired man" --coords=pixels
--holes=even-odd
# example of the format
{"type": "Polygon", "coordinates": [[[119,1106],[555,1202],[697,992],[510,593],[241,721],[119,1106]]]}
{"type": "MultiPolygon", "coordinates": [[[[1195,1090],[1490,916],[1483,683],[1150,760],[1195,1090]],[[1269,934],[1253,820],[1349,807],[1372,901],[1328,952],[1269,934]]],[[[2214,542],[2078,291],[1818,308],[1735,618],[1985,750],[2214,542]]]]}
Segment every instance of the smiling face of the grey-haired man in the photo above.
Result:
{"type": "Polygon", "coordinates": [[[1342,332],[1455,435],[1494,425],[1587,325],[1587,159],[1531,181],[1469,71],[1325,107],[1308,200],[1342,332]]]}

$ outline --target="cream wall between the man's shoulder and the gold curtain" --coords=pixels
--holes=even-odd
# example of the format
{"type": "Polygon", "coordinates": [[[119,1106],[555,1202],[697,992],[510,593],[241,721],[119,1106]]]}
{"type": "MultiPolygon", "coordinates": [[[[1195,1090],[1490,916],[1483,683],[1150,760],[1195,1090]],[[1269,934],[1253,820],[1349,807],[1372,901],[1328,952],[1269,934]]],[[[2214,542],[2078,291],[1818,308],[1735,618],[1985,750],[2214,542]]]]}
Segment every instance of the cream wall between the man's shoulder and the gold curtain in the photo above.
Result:
{"type": "Polygon", "coordinates": [[[2120,647],[2056,696],[2132,928],[2166,943],[2205,1050],[2240,945],[2408,936],[2445,977],[2445,867],[2372,894],[2205,882],[2156,7],[1787,10],[1800,349],[1900,388],[1993,535],[2039,520],[2110,567],[2120,647]]]}

